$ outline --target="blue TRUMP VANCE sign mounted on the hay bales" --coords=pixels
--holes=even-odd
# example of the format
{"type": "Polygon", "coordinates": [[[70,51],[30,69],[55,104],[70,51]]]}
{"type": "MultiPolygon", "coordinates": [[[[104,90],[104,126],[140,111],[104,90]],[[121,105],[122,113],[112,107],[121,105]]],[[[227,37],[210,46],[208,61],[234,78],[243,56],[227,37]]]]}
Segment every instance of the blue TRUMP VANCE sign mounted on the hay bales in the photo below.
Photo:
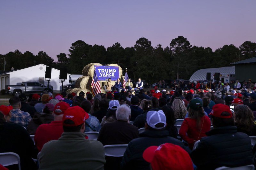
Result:
{"type": "Polygon", "coordinates": [[[116,66],[94,66],[99,80],[117,80],[119,78],[119,69],[116,66]]]}

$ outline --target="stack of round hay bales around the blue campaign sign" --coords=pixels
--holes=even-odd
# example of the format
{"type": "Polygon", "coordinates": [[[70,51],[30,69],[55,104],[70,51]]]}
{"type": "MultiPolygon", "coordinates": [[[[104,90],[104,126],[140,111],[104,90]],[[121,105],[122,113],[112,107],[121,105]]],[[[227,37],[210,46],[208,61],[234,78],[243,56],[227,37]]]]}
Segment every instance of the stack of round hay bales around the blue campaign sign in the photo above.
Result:
{"type": "MultiPolygon", "coordinates": [[[[102,66],[99,63],[90,63],[87,66],[84,67],[82,73],[83,76],[79,77],[76,80],[76,84],[75,84],[75,89],[69,89],[67,91],[67,93],[76,93],[77,95],[79,95],[80,91],[83,91],[84,93],[86,92],[90,92],[92,93],[92,78],[94,75],[94,66],[102,66]]],[[[120,66],[118,66],[117,64],[108,64],[106,66],[116,66],[119,67],[119,78],[122,78],[122,68],[120,66]]],[[[114,85],[116,81],[111,81],[111,84],[114,85]]],[[[123,82],[123,81],[121,81],[123,82]]],[[[106,81],[100,81],[100,86],[101,86],[101,93],[106,93],[106,91],[104,90],[104,85],[107,86],[107,80],[106,81]]]]}

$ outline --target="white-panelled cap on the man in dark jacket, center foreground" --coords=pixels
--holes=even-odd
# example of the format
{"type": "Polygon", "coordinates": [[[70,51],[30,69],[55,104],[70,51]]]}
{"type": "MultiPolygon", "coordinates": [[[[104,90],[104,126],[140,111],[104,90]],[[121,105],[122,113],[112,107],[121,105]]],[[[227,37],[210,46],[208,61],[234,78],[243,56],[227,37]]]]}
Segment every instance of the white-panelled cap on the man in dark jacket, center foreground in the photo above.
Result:
{"type": "Polygon", "coordinates": [[[163,129],[166,126],[166,117],[163,110],[148,111],[146,116],[147,124],[153,129],[163,129]],[[156,127],[156,124],[163,123],[163,126],[156,127]]]}

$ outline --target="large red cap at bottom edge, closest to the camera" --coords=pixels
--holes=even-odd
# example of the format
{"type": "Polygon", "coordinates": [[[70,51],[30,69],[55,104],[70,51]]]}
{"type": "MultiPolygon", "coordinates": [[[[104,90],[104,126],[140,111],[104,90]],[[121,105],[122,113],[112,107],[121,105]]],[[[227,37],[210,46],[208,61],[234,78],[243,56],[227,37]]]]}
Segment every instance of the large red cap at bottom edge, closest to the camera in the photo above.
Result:
{"type": "Polygon", "coordinates": [[[154,170],[193,170],[192,160],[184,149],[171,143],[150,146],[143,152],[143,158],[154,170]]]}

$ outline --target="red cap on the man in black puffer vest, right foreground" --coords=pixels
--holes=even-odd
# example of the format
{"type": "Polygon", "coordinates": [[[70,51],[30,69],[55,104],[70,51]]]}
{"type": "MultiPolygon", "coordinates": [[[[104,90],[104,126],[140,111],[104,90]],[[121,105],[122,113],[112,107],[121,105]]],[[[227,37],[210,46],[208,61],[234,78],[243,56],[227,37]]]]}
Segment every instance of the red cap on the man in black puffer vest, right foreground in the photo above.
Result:
{"type": "Polygon", "coordinates": [[[215,104],[212,107],[212,111],[209,115],[212,115],[214,117],[223,118],[223,119],[228,119],[228,118],[233,117],[233,114],[232,114],[229,106],[226,104],[215,104]],[[221,115],[221,113],[223,113],[223,112],[228,112],[228,113],[230,113],[230,115],[228,115],[228,116],[221,115]]]}

